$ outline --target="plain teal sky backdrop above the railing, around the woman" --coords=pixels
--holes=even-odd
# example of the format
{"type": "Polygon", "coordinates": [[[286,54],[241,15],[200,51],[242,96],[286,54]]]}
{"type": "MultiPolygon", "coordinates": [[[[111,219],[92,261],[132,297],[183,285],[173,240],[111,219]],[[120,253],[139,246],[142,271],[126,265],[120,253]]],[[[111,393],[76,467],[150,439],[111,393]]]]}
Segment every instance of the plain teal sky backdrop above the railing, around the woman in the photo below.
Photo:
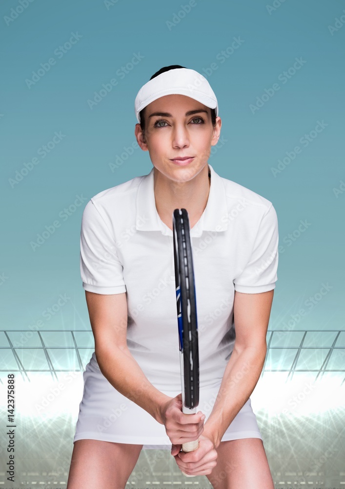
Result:
{"type": "Polygon", "coordinates": [[[344,15],[344,3],[287,0],[268,12],[266,1],[195,0],[175,24],[168,22],[178,19],[188,2],[26,1],[14,20],[8,20],[11,8],[20,3],[1,3],[3,330],[31,329],[38,320],[45,330],[90,328],[79,270],[82,211],[101,190],[151,170],[148,153],[140,149],[113,171],[109,163],[119,161],[135,141],[138,90],[170,64],[203,74],[208,68],[205,76],[218,97],[224,141],[209,162],[222,177],[271,200],[277,211],[284,252],[269,328],[342,328],[345,28],[339,27],[341,21],[338,30],[329,25],[344,15]],[[81,39],[61,56],[59,46],[71,33],[81,39]],[[221,62],[219,53],[234,38],[242,44],[221,62]],[[134,53],[143,59],[121,78],[117,71],[134,53]],[[29,88],[32,71],[52,57],[55,64],[29,88]],[[306,63],[283,83],[278,77],[295,58],[306,63]],[[213,71],[212,63],[217,65],[213,71]],[[90,109],[87,101],[112,78],[117,86],[90,109]],[[280,90],[253,113],[250,105],[274,83],[280,90]],[[327,126],[303,147],[300,139],[317,121],[327,126]],[[64,137],[39,156],[55,132],[64,137]],[[297,145],[301,154],[274,177],[271,169],[297,145]],[[35,156],[38,164],[11,185],[35,156]],[[335,195],[335,188],[342,190],[335,195]],[[59,213],[78,195],[85,200],[63,220],[59,213]],[[34,251],[30,243],[56,220],[60,227],[34,251]],[[310,225],[286,244],[288,233],[298,234],[301,220],[310,225]],[[323,283],[331,289],[321,300],[314,298],[309,309],[305,301],[323,283]],[[60,294],[68,299],[49,317],[45,311],[60,294]],[[291,315],[301,307],[308,313],[294,321],[291,315]]]}

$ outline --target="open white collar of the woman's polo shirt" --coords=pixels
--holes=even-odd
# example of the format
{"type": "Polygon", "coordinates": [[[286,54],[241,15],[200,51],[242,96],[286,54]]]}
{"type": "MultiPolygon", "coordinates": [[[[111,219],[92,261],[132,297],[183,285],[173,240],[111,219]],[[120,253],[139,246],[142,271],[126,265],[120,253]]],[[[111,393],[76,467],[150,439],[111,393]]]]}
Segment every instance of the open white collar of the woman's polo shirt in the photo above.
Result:
{"type": "MultiPolygon", "coordinates": [[[[222,178],[208,164],[211,172],[210,191],[203,214],[190,230],[190,236],[200,237],[203,231],[226,231],[227,204],[222,178]]],[[[172,221],[172,218],[171,218],[172,221]]],[[[136,198],[137,231],[161,231],[165,236],[173,236],[172,230],[162,222],[156,208],[154,194],[154,168],[144,175],[139,184],[136,198]]]]}

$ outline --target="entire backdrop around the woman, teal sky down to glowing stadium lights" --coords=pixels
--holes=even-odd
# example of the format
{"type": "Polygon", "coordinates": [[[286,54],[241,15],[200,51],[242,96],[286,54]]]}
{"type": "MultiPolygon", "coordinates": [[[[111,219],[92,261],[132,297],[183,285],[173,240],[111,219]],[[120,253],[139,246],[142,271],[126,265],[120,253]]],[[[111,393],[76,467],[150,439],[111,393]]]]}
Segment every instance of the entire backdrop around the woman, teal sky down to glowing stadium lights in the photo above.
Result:
{"type": "MultiPolygon", "coordinates": [[[[252,396],[276,488],[297,487],[296,479],[308,487],[343,487],[345,331],[334,330],[345,329],[345,3],[280,1],[195,0],[184,17],[189,0],[0,3],[0,459],[7,460],[3,400],[7,372],[14,371],[14,488],[31,487],[31,481],[53,487],[55,480],[61,487],[67,481],[81,372],[93,351],[80,277],[82,211],[97,193],[152,169],[147,152],[126,150],[135,142],[134,99],[153,73],[173,64],[203,73],[217,95],[223,142],[209,163],[220,176],[272,201],[278,215],[270,349],[252,396]],[[80,39],[61,53],[72,33],[80,39]],[[234,38],[241,45],[222,58],[234,38]],[[134,55],[141,61],[122,76],[134,55]],[[50,69],[30,84],[33,72],[51,58],[50,69]],[[282,74],[296,58],[304,64],[284,83],[282,74]],[[88,100],[114,78],[117,85],[90,108],[88,100]],[[253,111],[277,83],[280,89],[253,111]],[[318,121],[324,130],[312,133],[318,121]],[[55,133],[63,134],[61,141],[43,157],[41,148],[55,133]],[[305,134],[316,137],[304,146],[305,134]],[[272,168],[296,146],[300,154],[274,176],[272,168]],[[35,157],[37,164],[14,183],[35,157]],[[80,205],[73,207],[77,196],[80,205]],[[33,250],[37,235],[56,221],[60,226],[33,250]],[[303,232],[301,221],[308,223],[303,232]],[[324,284],[328,291],[322,295],[324,284]],[[285,383],[296,366],[293,381],[285,383]],[[312,384],[310,396],[303,383],[308,371],[310,378],[325,380],[312,384]],[[57,388],[58,379],[65,390],[38,411],[36,404],[57,388]],[[290,409],[296,395],[301,402],[290,409]],[[283,408],[288,415],[281,416],[283,408]],[[326,453],[331,455],[325,460],[326,453]]],[[[143,467],[150,481],[162,476],[176,484],[181,473],[169,452],[160,458],[162,452],[152,450],[157,465],[150,452],[142,451],[132,486],[143,486],[143,467]]],[[[9,486],[1,470],[0,482],[9,486]]],[[[210,487],[206,477],[197,481],[201,489],[210,487]]]]}

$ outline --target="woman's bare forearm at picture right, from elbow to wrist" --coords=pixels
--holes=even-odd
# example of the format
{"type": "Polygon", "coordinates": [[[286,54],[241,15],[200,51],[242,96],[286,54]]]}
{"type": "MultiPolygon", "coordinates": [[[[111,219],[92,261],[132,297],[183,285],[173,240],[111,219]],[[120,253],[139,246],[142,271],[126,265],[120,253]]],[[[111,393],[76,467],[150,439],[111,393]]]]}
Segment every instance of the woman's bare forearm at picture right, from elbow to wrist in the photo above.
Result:
{"type": "Polygon", "coordinates": [[[212,436],[215,445],[221,443],[229,424],[253,392],[264,366],[266,345],[261,348],[234,348],[226,365],[213,409],[205,421],[204,432],[212,436]]]}

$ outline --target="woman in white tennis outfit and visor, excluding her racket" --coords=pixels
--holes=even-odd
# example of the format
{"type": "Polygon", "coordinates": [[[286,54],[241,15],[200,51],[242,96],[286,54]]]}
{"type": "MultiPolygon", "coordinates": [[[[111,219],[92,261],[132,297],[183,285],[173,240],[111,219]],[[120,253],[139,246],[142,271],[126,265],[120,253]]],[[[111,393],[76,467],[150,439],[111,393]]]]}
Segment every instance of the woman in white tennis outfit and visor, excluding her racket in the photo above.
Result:
{"type": "Polygon", "coordinates": [[[208,163],[221,133],[218,110],[200,73],[160,69],[135,99],[136,139],[153,168],[85,206],[81,279],[95,352],[83,374],[67,489],[124,488],[142,448],[171,450],[184,473],[205,475],[217,489],[274,487],[250,395],[277,281],[277,215],[272,202],[208,163]],[[193,415],[182,413],[176,208],[188,212],[193,248],[193,415]],[[197,450],[181,451],[198,438],[197,450]]]}

